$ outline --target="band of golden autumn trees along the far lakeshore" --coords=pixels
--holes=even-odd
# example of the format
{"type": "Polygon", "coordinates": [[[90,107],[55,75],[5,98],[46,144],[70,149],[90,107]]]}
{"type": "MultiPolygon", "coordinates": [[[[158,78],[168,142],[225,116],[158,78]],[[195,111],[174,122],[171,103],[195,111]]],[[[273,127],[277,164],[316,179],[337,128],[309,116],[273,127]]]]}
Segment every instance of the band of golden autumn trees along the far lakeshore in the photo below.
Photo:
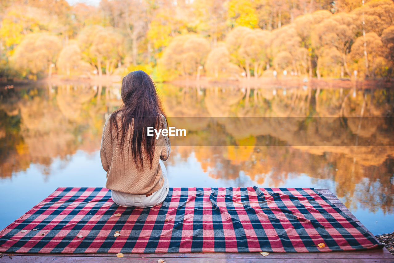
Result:
{"type": "Polygon", "coordinates": [[[387,79],[392,0],[65,0],[0,3],[0,80],[387,79]],[[275,76],[276,77],[276,76],[275,76]]]}

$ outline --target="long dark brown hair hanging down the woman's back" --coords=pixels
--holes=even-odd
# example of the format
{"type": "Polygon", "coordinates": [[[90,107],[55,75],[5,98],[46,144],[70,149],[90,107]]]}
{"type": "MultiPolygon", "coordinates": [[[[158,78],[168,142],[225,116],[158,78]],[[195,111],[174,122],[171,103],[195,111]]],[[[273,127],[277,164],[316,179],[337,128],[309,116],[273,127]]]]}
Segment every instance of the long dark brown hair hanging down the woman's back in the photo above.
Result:
{"type": "MultiPolygon", "coordinates": [[[[147,136],[147,127],[157,129],[161,119],[160,114],[165,116],[161,100],[156,92],[156,86],[151,77],[144,71],[132,71],[122,79],[121,96],[123,105],[110,116],[111,138],[112,128],[116,127],[116,138],[120,144],[123,161],[123,148],[128,137],[128,130],[132,127],[133,131],[130,134],[128,149],[131,147],[137,169],[143,170],[142,147],[144,152],[147,153],[146,157],[152,169],[155,136],[147,136]],[[119,114],[121,114],[120,129],[117,122],[117,115],[119,114]]],[[[167,118],[165,120],[167,122],[167,118]]]]}

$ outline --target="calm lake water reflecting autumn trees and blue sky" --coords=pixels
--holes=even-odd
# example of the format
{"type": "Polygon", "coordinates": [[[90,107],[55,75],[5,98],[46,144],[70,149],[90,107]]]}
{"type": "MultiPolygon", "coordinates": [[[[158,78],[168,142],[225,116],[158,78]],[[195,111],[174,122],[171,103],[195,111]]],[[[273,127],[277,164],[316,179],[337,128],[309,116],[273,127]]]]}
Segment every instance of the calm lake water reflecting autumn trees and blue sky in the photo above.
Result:
{"type": "MultiPolygon", "coordinates": [[[[282,120],[258,132],[253,119],[241,126],[216,123],[217,135],[238,147],[174,143],[165,162],[171,186],[328,188],[375,235],[394,231],[393,90],[158,90],[170,117],[282,120]],[[346,121],[338,124],[337,117],[346,121]]],[[[119,91],[120,86],[2,87],[0,229],[59,186],[105,186],[100,140],[106,116],[121,105],[119,91]]],[[[204,132],[194,136],[204,139],[204,132]]]]}

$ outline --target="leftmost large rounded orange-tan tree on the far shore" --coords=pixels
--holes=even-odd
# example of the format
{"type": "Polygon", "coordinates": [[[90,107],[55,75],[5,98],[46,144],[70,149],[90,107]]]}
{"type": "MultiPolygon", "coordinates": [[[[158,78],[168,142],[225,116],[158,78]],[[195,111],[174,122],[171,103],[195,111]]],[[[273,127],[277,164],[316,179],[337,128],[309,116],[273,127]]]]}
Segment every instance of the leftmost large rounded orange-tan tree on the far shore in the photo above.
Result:
{"type": "Polygon", "coordinates": [[[57,36],[32,33],[17,46],[12,61],[23,77],[32,75],[37,78],[44,73],[50,77],[60,50],[61,41],[57,36]]]}

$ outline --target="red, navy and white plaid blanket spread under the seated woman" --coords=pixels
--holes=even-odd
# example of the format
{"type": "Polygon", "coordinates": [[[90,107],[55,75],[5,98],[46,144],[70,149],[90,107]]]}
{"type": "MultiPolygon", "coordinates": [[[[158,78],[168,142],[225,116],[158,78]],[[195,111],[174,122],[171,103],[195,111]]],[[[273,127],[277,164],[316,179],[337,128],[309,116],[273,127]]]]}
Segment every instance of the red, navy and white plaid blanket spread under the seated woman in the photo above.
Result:
{"type": "Polygon", "coordinates": [[[133,209],[113,203],[106,188],[60,187],[0,232],[0,252],[19,253],[378,247],[382,245],[368,232],[309,188],[170,188],[162,205],[133,209]],[[115,231],[119,236],[114,237],[115,231]]]}

